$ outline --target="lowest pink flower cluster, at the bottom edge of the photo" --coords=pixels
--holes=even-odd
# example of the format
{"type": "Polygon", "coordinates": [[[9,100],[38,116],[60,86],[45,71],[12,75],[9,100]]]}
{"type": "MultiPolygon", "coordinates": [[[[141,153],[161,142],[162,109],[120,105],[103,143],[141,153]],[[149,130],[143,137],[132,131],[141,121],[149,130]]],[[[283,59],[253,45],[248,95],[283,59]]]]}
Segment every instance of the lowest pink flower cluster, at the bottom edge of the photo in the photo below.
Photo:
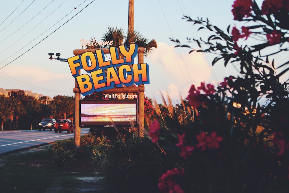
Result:
{"type": "Polygon", "coordinates": [[[167,170],[166,173],[159,178],[159,189],[164,193],[184,193],[178,183],[175,183],[174,177],[177,175],[184,175],[184,170],[178,170],[174,168],[167,170]]]}

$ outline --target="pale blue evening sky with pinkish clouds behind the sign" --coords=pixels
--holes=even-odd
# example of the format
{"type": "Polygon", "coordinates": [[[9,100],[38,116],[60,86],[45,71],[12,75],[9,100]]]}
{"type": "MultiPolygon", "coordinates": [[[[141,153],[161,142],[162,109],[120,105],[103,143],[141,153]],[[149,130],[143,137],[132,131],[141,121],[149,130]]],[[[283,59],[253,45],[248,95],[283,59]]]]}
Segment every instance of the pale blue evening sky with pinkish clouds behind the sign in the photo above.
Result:
{"type": "MultiPolygon", "coordinates": [[[[158,47],[144,58],[149,65],[150,84],[144,94],[162,103],[161,94],[173,104],[186,98],[192,84],[217,85],[238,74],[234,67],[217,63],[215,56],[175,48],[170,38],[182,44],[200,38],[192,23],[182,19],[202,17],[226,31],[233,20],[233,0],[143,0],[134,2],[134,30],[158,47]]],[[[128,0],[13,0],[0,11],[0,88],[31,90],[34,93],[74,96],[74,78],[67,62],[49,60],[48,53],[70,58],[82,49],[81,39],[101,40],[108,27],[128,28],[128,0]]],[[[192,47],[197,45],[189,44],[192,47]]],[[[55,57],[55,56],[54,56],[55,57]]]]}

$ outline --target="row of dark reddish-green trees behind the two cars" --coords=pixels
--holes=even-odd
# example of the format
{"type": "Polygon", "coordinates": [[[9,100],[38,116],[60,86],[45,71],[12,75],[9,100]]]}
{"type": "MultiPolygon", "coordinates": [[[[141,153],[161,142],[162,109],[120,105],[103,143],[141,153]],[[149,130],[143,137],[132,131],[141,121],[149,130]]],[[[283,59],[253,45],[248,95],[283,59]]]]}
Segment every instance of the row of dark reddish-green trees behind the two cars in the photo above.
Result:
{"type": "Polygon", "coordinates": [[[11,91],[9,97],[0,95],[0,130],[35,129],[44,118],[73,121],[74,97],[57,95],[49,104],[46,101],[45,96],[37,100],[23,90],[11,91]]]}

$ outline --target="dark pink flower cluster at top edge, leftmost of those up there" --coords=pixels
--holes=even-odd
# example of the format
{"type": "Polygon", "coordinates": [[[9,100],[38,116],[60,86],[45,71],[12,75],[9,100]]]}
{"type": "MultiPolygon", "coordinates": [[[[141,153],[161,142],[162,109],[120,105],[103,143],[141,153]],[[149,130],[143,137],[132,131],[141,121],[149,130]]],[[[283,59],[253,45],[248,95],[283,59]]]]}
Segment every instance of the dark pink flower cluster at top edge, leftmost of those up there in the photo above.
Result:
{"type": "Polygon", "coordinates": [[[235,0],[232,5],[232,13],[234,15],[234,20],[241,21],[243,17],[249,17],[252,11],[253,2],[252,0],[235,0]]]}

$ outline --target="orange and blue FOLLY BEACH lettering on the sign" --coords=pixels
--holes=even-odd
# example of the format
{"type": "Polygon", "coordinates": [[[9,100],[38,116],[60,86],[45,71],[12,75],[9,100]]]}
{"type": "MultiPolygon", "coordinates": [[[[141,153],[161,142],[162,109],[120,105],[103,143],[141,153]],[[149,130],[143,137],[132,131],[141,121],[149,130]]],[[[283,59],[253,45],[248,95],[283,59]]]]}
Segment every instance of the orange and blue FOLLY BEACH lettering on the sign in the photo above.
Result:
{"type": "Polygon", "coordinates": [[[107,61],[101,49],[95,50],[95,53],[84,52],[67,59],[71,74],[76,79],[82,95],[112,89],[114,86],[149,84],[147,63],[134,64],[138,51],[136,44],[130,44],[129,49],[125,45],[119,46],[119,52],[124,56],[123,58],[118,57],[116,47],[109,49],[111,60],[107,61]],[[79,69],[84,69],[88,74],[79,74],[79,69]]]}

